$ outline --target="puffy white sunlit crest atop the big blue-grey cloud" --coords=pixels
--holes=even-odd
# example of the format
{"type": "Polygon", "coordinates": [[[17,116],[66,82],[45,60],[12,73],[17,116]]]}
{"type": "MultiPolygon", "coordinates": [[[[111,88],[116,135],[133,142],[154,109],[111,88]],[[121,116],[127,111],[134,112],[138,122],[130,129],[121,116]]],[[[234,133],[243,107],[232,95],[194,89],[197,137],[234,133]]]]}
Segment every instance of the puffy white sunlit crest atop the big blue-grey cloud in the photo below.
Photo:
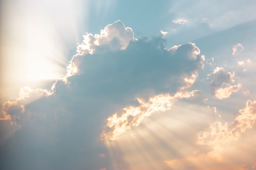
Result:
{"type": "Polygon", "coordinates": [[[131,40],[134,40],[132,29],[125,27],[120,20],[107,25],[101,30],[100,34],[92,35],[91,33],[86,33],[83,35],[83,42],[76,47],[77,54],[73,56],[67,67],[67,76],[78,72],[76,58],[79,58],[79,56],[124,50],[131,40]]]}

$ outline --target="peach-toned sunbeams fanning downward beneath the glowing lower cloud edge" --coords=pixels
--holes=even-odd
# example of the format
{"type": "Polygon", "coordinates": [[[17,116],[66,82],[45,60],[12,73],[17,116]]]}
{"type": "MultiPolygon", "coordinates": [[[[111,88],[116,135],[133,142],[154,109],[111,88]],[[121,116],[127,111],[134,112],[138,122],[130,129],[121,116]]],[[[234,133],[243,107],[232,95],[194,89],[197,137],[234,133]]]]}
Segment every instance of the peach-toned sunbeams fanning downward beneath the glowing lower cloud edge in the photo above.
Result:
{"type": "MultiPolygon", "coordinates": [[[[201,119],[209,119],[209,116],[205,115],[207,110],[213,113],[213,110],[208,109],[207,106],[192,107],[172,106],[173,109],[170,111],[152,115],[153,117],[144,119],[138,127],[131,127],[129,132],[120,135],[116,140],[106,138],[107,143],[110,141],[112,144],[108,147],[119,150],[119,155],[114,154],[114,157],[122,157],[130,169],[162,170],[177,167],[170,163],[173,163],[175,158],[188,157],[198,148],[195,143],[199,126],[195,128],[191,126],[199,124],[201,119]],[[191,141],[193,139],[194,141],[191,141]],[[191,142],[195,146],[191,146],[191,142]]],[[[205,126],[207,123],[208,121],[204,122],[205,126]]],[[[202,166],[193,159],[186,160],[186,163],[191,167],[202,166]]]]}

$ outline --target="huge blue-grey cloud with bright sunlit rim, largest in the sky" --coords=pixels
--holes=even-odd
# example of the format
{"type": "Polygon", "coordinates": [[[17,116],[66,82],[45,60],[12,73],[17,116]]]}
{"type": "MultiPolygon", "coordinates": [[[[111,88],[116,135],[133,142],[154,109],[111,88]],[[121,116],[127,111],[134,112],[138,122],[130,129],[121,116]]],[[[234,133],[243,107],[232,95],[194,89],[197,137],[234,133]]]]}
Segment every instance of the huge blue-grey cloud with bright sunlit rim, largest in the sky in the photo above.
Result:
{"type": "Polygon", "coordinates": [[[164,43],[161,37],[135,40],[121,21],[99,35],[85,34],[67,75],[51,90],[25,87],[17,99],[4,102],[2,119],[9,120],[1,121],[16,122],[20,128],[0,146],[2,167],[113,169],[111,152],[100,141],[107,119],[114,120],[113,113],[126,108],[123,116],[116,116],[124,128],[115,124],[112,131],[104,129],[110,136],[136,126],[151,113],[168,109],[171,96],[191,95],[183,90],[204,68],[204,56],[195,44],[168,51],[164,43]]]}

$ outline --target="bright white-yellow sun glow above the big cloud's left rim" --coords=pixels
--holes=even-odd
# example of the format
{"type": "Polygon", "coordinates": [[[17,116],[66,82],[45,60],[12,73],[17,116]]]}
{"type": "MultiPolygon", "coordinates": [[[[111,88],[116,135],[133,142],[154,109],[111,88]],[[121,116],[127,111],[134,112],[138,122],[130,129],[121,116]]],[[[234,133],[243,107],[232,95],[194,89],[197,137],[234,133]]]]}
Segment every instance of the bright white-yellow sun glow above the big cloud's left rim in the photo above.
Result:
{"type": "Polygon", "coordinates": [[[65,76],[81,34],[79,16],[72,12],[77,6],[71,1],[1,2],[1,102],[15,98],[24,86],[38,88],[65,76]]]}

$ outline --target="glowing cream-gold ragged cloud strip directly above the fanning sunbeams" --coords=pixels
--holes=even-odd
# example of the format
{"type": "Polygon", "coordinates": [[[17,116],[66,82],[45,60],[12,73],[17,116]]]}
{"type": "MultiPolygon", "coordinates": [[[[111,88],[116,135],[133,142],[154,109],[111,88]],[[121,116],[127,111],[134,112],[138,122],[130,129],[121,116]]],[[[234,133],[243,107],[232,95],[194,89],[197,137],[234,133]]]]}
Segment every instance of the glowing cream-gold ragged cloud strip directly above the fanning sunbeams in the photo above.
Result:
{"type": "Polygon", "coordinates": [[[142,99],[138,99],[139,106],[130,106],[124,108],[124,112],[120,116],[115,113],[111,117],[108,117],[108,123],[105,126],[101,137],[102,139],[108,138],[111,140],[117,139],[117,137],[127,130],[130,130],[131,126],[139,126],[145,117],[149,117],[151,114],[170,110],[173,102],[179,98],[193,97],[197,91],[192,92],[177,92],[174,96],[168,93],[164,95],[157,95],[151,97],[148,102],[142,99]]]}

